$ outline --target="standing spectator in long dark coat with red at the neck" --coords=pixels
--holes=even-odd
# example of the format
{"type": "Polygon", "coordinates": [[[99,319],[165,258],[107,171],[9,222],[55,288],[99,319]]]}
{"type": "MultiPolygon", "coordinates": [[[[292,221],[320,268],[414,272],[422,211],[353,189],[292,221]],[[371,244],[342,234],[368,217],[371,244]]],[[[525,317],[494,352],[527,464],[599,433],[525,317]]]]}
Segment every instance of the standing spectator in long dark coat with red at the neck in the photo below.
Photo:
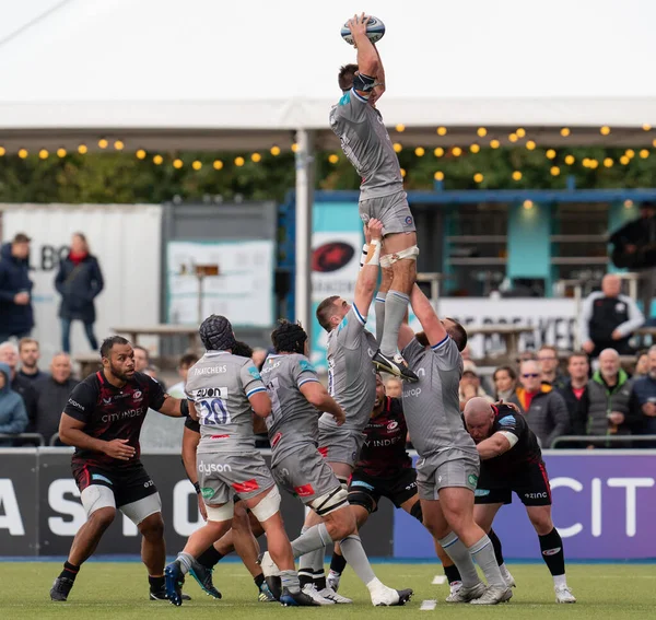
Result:
{"type": "Polygon", "coordinates": [[[89,253],[86,237],[75,233],[68,256],[59,262],[55,288],[61,295],[61,348],[71,352],[71,323],[81,320],[91,348],[96,351],[98,341],[93,332],[95,305],[93,301],[103,290],[103,273],[95,256],[89,253]]]}

